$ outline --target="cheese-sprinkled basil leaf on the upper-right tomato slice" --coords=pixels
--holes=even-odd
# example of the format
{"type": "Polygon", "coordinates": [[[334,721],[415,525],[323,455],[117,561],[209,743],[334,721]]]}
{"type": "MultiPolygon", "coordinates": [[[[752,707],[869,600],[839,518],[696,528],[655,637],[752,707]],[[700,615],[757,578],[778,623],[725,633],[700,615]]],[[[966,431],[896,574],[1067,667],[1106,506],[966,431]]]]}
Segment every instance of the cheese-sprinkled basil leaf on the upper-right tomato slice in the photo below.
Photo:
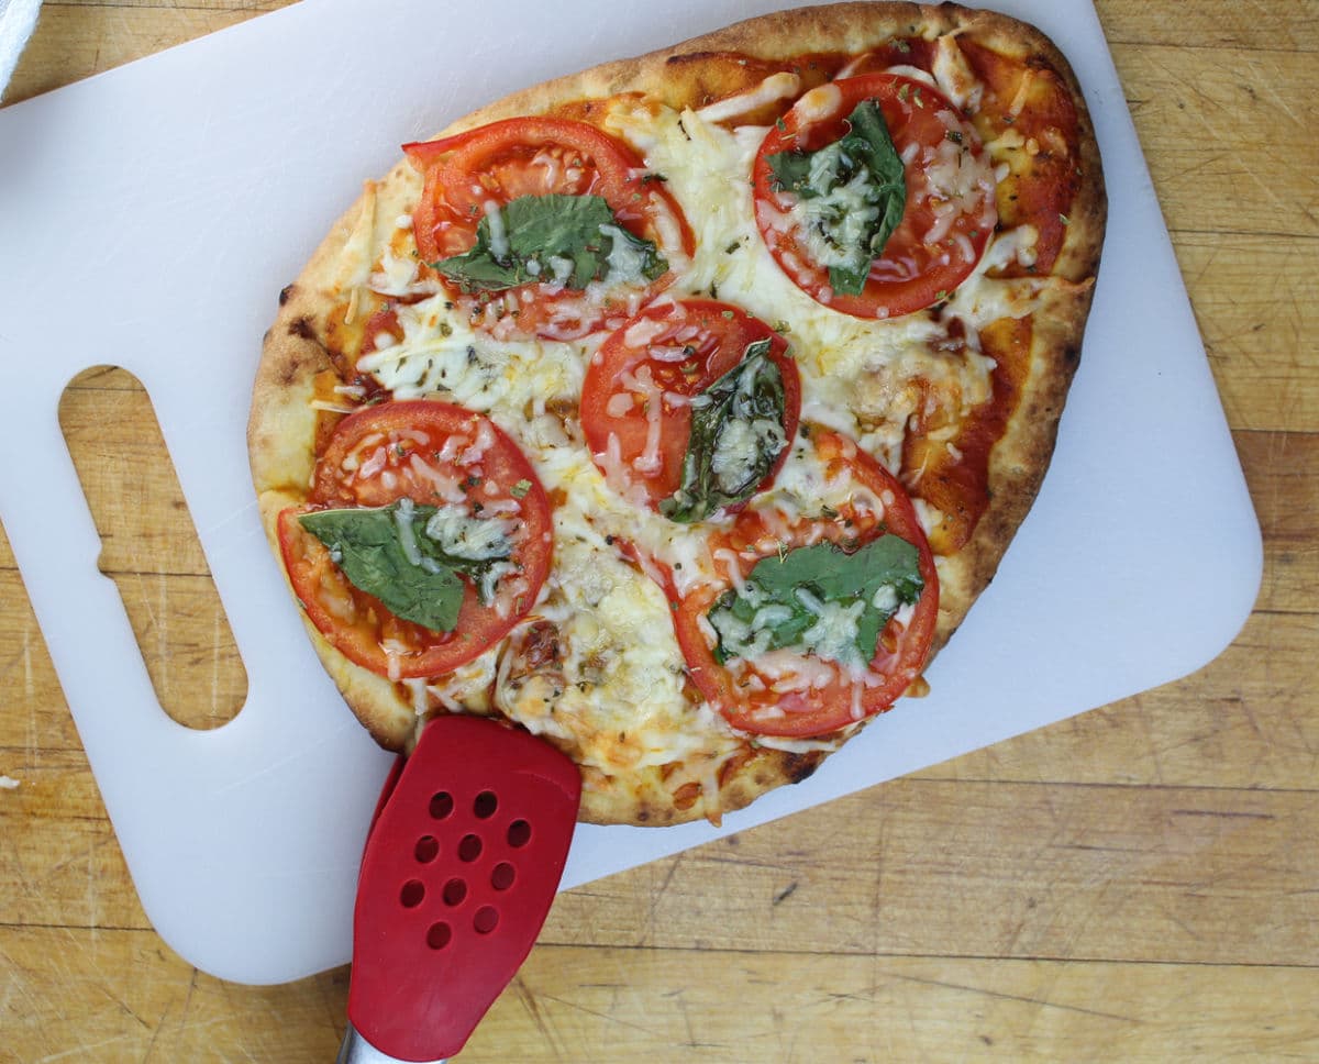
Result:
{"type": "Polygon", "coordinates": [[[860,295],[906,208],[906,175],[884,111],[859,103],[848,132],[815,152],[780,152],[766,162],[774,186],[803,202],[807,247],[828,268],[830,286],[860,295]]]}

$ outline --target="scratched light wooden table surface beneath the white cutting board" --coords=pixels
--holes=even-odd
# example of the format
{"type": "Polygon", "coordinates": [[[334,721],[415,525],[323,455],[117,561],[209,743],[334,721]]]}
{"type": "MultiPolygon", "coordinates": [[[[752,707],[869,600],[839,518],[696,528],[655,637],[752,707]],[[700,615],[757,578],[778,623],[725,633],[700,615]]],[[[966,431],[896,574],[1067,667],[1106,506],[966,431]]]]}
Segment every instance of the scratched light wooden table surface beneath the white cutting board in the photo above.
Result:
{"type": "MultiPolygon", "coordinates": [[[[7,102],[280,5],[47,0],[7,102]]],[[[1264,526],[1244,630],[1158,691],[566,893],[463,1061],[1319,1059],[1319,3],[1097,5],[1264,526]]],[[[124,472],[142,393],[92,373],[63,418],[162,701],[226,719],[204,562],[153,519],[177,488],[124,472]]],[[[347,968],[236,986],[152,931],[7,542],[0,670],[0,1061],[331,1060],[347,968]]]]}

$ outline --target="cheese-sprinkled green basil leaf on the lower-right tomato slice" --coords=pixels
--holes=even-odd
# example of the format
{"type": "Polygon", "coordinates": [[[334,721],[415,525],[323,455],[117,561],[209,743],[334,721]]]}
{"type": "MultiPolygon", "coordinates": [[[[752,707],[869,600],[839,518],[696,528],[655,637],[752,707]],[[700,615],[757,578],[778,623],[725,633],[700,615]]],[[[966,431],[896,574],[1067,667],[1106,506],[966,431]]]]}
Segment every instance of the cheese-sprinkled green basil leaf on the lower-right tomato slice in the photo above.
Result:
{"type": "Polygon", "coordinates": [[[881,535],[851,554],[814,543],[762,558],[740,592],[724,592],[710,609],[719,635],[715,657],[723,663],[801,646],[865,666],[898,606],[915,603],[923,589],[919,552],[896,535],[881,535]],[[844,626],[855,624],[849,643],[828,633],[822,606],[835,618],[847,614],[844,626]]]}

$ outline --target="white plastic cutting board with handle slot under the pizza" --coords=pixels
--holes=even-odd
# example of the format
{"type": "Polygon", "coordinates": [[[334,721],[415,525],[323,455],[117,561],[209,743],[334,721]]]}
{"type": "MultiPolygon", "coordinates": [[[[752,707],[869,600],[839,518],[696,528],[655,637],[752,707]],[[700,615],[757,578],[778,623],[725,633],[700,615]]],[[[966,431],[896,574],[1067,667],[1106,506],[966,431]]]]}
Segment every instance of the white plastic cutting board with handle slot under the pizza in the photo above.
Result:
{"type": "MultiPolygon", "coordinates": [[[[142,904],[190,962],[280,982],[346,961],[389,765],[324,679],[257,521],[244,425],[277,293],[400,144],[777,7],[306,0],[0,112],[0,516],[142,904]],[[158,708],[96,571],[57,402],[102,363],[150,393],[243,655],[247,705],[215,732],[158,708]]],[[[1074,62],[1111,195],[1038,504],[930,697],[721,831],[583,827],[566,886],[1186,675],[1250,610],[1258,526],[1099,22],[1087,0],[1001,7],[1074,62]]]]}

